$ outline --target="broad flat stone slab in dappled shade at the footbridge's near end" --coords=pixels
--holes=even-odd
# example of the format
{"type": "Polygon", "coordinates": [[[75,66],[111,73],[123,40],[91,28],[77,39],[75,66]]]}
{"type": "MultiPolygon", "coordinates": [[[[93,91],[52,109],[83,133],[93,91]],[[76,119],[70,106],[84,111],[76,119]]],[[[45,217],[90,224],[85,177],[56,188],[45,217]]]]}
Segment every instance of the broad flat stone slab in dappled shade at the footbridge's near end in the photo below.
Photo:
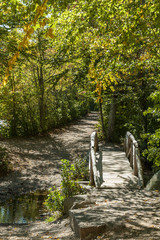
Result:
{"type": "Polygon", "coordinates": [[[112,189],[90,199],[92,205],[69,211],[71,228],[81,240],[95,239],[104,232],[118,229],[160,229],[159,193],[112,189]]]}

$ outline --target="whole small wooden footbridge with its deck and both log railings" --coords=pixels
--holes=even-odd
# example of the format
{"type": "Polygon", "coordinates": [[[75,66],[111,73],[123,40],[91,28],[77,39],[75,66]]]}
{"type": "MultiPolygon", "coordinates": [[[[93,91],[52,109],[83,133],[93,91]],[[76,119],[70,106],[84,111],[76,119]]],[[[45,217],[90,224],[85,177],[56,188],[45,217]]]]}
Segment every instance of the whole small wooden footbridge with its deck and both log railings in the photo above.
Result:
{"type": "Polygon", "coordinates": [[[124,151],[105,145],[99,152],[97,133],[91,135],[90,182],[97,188],[143,188],[143,171],[138,143],[126,133],[124,151]]]}

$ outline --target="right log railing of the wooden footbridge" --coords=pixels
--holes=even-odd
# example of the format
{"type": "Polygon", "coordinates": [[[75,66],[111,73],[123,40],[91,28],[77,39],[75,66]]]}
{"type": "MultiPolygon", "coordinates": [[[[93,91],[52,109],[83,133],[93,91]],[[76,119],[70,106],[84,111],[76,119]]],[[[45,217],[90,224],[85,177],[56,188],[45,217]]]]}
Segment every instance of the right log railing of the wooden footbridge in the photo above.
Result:
{"type": "Polygon", "coordinates": [[[140,151],[138,148],[138,142],[134,136],[127,132],[124,140],[124,151],[126,157],[130,162],[130,166],[133,169],[133,174],[138,177],[138,184],[141,188],[144,187],[143,168],[140,158],[140,151]]]}

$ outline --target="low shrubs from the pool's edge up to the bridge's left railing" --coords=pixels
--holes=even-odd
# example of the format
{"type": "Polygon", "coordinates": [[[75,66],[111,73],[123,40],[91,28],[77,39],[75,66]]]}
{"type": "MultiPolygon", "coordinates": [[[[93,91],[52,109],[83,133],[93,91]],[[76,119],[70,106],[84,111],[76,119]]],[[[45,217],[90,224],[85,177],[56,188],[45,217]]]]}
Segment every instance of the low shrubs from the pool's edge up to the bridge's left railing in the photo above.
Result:
{"type": "Polygon", "coordinates": [[[84,189],[78,183],[79,179],[87,177],[86,161],[81,159],[71,164],[68,160],[61,160],[61,185],[60,188],[49,189],[48,198],[45,201],[45,205],[48,210],[53,214],[48,221],[54,221],[55,219],[64,215],[64,200],[68,197],[72,197],[77,194],[82,194],[84,189]]]}

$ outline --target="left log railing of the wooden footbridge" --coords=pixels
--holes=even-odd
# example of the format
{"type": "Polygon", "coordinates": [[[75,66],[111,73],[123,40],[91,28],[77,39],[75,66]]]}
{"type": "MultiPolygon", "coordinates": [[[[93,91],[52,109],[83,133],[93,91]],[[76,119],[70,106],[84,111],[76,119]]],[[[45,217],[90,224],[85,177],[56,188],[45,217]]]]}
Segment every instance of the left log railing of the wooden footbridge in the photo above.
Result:
{"type": "Polygon", "coordinates": [[[89,153],[90,185],[99,188],[103,182],[102,154],[99,152],[97,133],[91,134],[89,153]]]}

